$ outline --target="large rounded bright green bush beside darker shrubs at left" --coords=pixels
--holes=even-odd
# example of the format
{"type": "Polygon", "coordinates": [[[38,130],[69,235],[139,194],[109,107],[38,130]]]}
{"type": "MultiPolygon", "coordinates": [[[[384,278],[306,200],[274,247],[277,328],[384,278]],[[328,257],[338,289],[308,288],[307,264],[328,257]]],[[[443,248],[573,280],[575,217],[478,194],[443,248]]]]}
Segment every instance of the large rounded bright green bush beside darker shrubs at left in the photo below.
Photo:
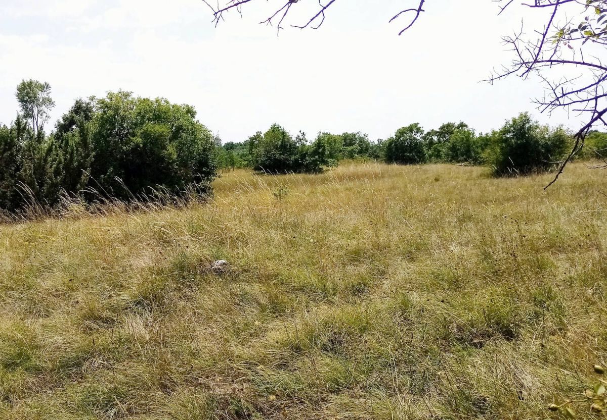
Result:
{"type": "Polygon", "coordinates": [[[214,178],[214,136],[191,106],[119,91],[95,108],[91,176],[107,195],[128,199],[158,186],[178,194],[214,178]]]}

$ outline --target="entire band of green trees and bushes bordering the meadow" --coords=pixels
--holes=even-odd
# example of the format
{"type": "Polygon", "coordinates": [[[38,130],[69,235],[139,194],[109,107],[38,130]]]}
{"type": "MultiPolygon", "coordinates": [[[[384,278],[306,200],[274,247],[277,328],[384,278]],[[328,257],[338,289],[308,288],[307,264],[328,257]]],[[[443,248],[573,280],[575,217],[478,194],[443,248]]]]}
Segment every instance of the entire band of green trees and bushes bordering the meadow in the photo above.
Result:
{"type": "MultiPolygon", "coordinates": [[[[274,124],[242,143],[222,145],[190,105],[123,91],[77,99],[47,134],[55,105],[50,93],[47,83],[22,81],[18,115],[0,125],[0,213],[57,208],[64,201],[174,201],[208,193],[217,168],[317,173],[344,159],[372,159],[487,165],[498,176],[524,175],[549,170],[571,147],[563,128],[541,125],[527,113],[490,133],[449,122],[428,132],[407,125],[378,141],[360,132],[321,132],[309,141],[274,124]]],[[[595,132],[577,158],[602,158],[606,150],[607,134],[595,132]]]]}

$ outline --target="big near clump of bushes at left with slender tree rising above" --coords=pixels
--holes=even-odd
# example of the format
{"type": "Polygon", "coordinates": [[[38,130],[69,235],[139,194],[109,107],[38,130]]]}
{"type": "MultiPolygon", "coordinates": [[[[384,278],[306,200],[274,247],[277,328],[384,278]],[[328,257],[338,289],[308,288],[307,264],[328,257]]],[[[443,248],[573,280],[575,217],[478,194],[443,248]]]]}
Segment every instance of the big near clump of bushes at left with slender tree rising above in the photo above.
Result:
{"type": "Polygon", "coordinates": [[[189,105],[110,92],[76,100],[46,135],[50,85],[22,81],[16,96],[21,112],[0,126],[0,210],[206,192],[214,179],[214,138],[189,105]]]}

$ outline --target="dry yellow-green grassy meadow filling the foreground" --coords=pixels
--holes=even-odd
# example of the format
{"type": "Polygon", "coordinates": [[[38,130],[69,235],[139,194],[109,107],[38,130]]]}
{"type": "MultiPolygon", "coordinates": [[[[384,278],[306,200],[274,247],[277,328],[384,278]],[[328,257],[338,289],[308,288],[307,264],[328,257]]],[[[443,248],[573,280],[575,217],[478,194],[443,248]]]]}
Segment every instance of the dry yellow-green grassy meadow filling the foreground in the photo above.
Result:
{"type": "Polygon", "coordinates": [[[546,418],[607,359],[605,174],[548,179],[235,172],[0,226],[0,418],[546,418]]]}

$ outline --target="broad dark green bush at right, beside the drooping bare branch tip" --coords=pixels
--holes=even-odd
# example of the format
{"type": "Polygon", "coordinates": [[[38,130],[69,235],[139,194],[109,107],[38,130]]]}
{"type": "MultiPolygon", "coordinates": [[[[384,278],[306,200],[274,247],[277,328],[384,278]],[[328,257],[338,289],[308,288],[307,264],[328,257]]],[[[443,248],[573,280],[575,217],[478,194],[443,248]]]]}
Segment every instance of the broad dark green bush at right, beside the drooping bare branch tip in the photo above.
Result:
{"type": "Polygon", "coordinates": [[[565,156],[569,136],[563,128],[549,128],[528,113],[507,121],[495,133],[487,150],[487,162],[496,175],[543,172],[565,156]]]}

